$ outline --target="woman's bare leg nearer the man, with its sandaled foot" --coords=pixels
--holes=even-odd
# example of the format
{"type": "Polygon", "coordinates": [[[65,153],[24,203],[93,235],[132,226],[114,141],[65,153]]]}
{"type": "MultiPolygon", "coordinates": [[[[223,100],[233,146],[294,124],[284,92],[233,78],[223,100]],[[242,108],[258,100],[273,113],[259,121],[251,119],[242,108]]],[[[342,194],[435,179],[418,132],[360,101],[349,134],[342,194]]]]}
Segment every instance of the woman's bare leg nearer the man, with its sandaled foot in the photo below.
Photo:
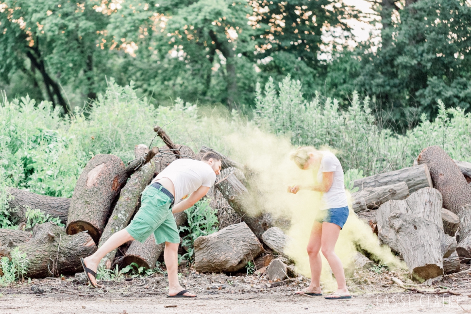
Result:
{"type": "Polygon", "coordinates": [[[309,266],[311,267],[311,284],[309,287],[296,291],[302,293],[320,293],[320,272],[322,270],[322,259],[320,258],[320,245],[322,237],[322,224],[314,222],[312,226],[309,243],[307,244],[307,254],[309,255],[309,266]]]}

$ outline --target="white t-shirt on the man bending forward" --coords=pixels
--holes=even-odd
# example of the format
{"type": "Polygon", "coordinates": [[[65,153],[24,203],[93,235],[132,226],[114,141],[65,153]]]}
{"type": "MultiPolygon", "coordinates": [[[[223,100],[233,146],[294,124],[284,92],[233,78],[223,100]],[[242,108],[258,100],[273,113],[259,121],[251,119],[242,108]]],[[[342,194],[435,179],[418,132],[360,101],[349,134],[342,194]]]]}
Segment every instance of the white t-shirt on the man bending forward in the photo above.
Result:
{"type": "Polygon", "coordinates": [[[200,186],[211,187],[216,181],[216,173],[210,165],[193,159],[177,159],[160,172],[158,179],[168,178],[175,187],[175,204],[187,198],[200,186]]]}

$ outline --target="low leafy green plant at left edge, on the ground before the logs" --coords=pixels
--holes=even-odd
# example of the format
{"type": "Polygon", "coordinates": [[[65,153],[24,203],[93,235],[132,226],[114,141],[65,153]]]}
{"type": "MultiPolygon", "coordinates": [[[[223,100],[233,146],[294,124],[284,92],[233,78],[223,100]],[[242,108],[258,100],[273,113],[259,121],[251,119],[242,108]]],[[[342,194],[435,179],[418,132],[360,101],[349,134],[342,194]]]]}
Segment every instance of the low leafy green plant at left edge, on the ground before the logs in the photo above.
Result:
{"type": "Polygon", "coordinates": [[[7,286],[17,280],[23,279],[28,272],[29,260],[26,253],[21,253],[18,248],[10,252],[11,260],[3,256],[0,260],[3,276],[0,277],[0,286],[7,286]]]}

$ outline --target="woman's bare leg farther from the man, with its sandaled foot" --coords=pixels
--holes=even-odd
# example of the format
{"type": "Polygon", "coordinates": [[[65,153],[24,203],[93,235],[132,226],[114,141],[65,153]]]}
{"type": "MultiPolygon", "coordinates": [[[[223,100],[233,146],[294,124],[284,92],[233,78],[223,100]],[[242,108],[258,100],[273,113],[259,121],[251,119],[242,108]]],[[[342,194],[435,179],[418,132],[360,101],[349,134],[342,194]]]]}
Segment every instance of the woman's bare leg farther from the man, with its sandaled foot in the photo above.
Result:
{"type": "Polygon", "coordinates": [[[321,250],[322,255],[324,255],[327,259],[327,262],[329,262],[329,266],[332,269],[332,272],[334,273],[335,279],[337,281],[337,290],[334,294],[338,294],[340,296],[349,296],[350,293],[347,289],[347,283],[345,282],[345,272],[343,270],[343,265],[335,253],[335,244],[339,234],[339,226],[330,222],[323,222],[321,250]]]}

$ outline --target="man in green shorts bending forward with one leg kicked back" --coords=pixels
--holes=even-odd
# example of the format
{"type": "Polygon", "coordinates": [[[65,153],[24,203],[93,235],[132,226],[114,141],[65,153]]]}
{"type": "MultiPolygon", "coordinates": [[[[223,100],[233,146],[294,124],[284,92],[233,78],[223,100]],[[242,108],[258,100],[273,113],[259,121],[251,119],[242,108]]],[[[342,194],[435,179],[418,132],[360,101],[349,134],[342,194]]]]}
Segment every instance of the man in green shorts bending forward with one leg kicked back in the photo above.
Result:
{"type": "Polygon", "coordinates": [[[93,255],[81,259],[90,283],[97,284],[98,264],[108,252],[128,241],[143,243],[153,233],[155,243],[165,242],[168,297],[196,297],[178,282],[180,235],[172,213],[183,212],[205,196],[220,170],[221,160],[213,152],[206,153],[201,161],[177,159],[168,165],[142,192],[141,207],[129,226],[113,234],[93,255]]]}

